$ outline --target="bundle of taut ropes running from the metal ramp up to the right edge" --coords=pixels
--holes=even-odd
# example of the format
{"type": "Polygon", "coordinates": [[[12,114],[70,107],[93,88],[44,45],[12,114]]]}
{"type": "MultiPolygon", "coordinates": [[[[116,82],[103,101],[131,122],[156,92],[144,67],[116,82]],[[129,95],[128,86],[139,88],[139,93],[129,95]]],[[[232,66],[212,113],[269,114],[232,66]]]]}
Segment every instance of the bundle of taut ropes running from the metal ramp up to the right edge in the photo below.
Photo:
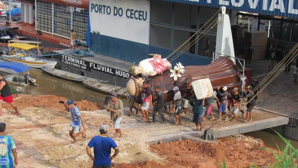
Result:
{"type": "MultiPolygon", "coordinates": [[[[281,72],[282,70],[290,63],[292,62],[296,55],[298,54],[298,43],[292,48],[292,50],[282,59],[281,62],[279,62],[277,64],[277,66],[260,82],[260,84],[256,87],[256,88],[253,88],[252,92],[247,94],[246,97],[244,97],[242,100],[246,99],[247,97],[249,97],[254,91],[256,91],[257,88],[259,88],[263,83],[265,83],[265,81],[272,76],[272,74],[274,74],[275,72],[275,75],[271,78],[271,80],[269,80],[268,83],[266,83],[264,85],[264,87],[262,89],[260,89],[260,91],[258,91],[257,94],[255,94],[246,104],[248,104],[249,102],[251,102],[252,100],[254,100],[254,97],[256,97],[258,94],[260,94],[260,92],[262,92],[281,72]],[[294,54],[293,54],[294,53],[294,54]],[[290,57],[290,58],[289,58],[290,57]],[[288,59],[289,58],[289,59],[288,59]],[[285,61],[287,60],[287,61],[285,61]],[[283,64],[284,62],[286,62],[285,64],[283,64]],[[278,68],[283,65],[279,70],[278,68]]],[[[242,104],[242,100],[240,101],[240,105],[242,104]]],[[[244,105],[246,105],[244,104],[244,105]]],[[[230,112],[232,112],[233,110],[235,109],[235,107],[233,107],[229,112],[227,112],[224,116],[222,116],[223,118],[226,117],[230,112]]],[[[234,115],[232,115],[232,117],[234,117],[234,115]]],[[[232,117],[230,117],[227,121],[229,121],[232,117]]],[[[221,126],[223,126],[227,121],[225,121],[223,124],[221,124],[217,129],[215,129],[215,131],[217,131],[221,126]]],[[[212,128],[215,124],[217,124],[218,122],[220,121],[217,121],[216,123],[214,123],[212,126],[210,126],[208,129],[212,128]]]]}

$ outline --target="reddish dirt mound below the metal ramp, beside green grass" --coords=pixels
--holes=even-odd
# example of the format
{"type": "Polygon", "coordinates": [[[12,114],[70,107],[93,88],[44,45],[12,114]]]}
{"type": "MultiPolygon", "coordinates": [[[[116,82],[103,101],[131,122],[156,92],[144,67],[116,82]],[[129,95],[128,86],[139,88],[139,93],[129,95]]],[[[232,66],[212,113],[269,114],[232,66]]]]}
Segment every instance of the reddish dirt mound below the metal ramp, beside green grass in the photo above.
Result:
{"type": "Polygon", "coordinates": [[[225,158],[227,167],[239,168],[249,167],[251,163],[267,166],[274,160],[270,152],[259,149],[266,147],[262,140],[243,137],[219,138],[217,143],[176,140],[152,144],[150,148],[167,160],[168,164],[162,167],[218,167],[216,163],[222,164],[225,158]]]}

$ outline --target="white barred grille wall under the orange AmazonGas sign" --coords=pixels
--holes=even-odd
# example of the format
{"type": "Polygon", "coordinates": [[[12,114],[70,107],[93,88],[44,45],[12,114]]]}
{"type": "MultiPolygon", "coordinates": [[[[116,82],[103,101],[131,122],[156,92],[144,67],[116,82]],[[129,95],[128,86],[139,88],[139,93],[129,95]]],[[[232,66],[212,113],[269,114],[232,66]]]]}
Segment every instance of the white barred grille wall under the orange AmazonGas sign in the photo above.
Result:
{"type": "Polygon", "coordinates": [[[38,30],[70,38],[70,31],[73,29],[77,40],[87,41],[86,9],[36,0],[36,19],[38,30]]]}

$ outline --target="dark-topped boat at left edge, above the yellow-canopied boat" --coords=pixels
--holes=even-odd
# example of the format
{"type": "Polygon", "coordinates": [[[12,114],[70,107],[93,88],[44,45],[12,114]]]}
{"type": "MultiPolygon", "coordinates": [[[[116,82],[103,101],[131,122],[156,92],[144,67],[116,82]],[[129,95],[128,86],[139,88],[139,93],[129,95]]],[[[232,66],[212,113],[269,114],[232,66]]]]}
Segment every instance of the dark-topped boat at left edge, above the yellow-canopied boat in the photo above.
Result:
{"type": "Polygon", "coordinates": [[[9,40],[15,39],[15,34],[18,35],[18,39],[25,40],[26,36],[21,36],[18,32],[18,27],[8,28],[6,26],[0,26],[0,42],[8,42],[9,40]]]}

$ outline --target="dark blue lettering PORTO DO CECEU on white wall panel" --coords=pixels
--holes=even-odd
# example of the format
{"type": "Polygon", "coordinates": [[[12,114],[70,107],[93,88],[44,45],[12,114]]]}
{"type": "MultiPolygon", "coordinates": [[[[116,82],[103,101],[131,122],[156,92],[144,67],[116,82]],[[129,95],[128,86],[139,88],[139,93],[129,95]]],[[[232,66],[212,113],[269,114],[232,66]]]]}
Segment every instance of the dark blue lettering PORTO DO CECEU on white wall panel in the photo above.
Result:
{"type": "Polygon", "coordinates": [[[108,5],[91,3],[91,12],[127,17],[128,19],[147,20],[147,11],[137,9],[123,9],[122,7],[110,7],[108,5]]]}

